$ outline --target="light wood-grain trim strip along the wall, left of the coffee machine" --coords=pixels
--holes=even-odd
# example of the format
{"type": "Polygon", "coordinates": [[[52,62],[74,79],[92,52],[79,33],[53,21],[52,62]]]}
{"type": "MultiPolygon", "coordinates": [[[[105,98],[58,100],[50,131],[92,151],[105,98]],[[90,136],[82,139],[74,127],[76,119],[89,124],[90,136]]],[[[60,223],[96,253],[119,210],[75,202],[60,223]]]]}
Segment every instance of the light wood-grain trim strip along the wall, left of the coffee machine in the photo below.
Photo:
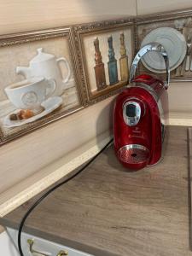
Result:
{"type": "Polygon", "coordinates": [[[81,147],[76,148],[69,154],[65,154],[59,160],[52,162],[49,166],[45,166],[40,172],[15,184],[14,187],[2,193],[0,196],[0,217],[20,207],[21,204],[58,182],[68,173],[83,165],[87,160],[90,160],[108,143],[110,138],[110,131],[98,135],[90,140],[89,143],[81,145],[81,147]]]}

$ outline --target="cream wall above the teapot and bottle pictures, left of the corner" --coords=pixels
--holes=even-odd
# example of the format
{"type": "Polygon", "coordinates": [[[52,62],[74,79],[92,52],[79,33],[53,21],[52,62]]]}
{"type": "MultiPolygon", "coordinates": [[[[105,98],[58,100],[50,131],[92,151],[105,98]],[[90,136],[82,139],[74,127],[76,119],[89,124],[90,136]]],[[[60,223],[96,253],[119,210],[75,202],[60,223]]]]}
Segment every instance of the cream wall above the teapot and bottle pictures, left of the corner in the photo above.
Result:
{"type": "Polygon", "coordinates": [[[135,0],[0,1],[0,34],[136,15],[135,0]]]}

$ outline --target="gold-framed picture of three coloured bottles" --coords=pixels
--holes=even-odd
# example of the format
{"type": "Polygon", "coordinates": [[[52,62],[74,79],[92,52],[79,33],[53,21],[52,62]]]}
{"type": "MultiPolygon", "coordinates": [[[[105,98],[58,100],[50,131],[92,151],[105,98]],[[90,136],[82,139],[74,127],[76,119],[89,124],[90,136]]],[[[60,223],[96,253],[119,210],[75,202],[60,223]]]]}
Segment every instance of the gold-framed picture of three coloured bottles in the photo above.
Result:
{"type": "Polygon", "coordinates": [[[85,103],[99,102],[122,90],[129,83],[134,55],[133,21],[78,25],[74,26],[74,33],[85,103]]]}

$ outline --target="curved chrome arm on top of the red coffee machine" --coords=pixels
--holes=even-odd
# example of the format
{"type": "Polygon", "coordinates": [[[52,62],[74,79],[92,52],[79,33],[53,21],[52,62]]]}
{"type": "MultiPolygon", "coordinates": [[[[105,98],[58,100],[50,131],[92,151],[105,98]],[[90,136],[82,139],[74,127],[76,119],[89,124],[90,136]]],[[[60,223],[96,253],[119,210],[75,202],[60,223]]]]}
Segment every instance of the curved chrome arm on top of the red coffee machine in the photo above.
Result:
{"type": "Polygon", "coordinates": [[[166,53],[166,49],[161,44],[155,43],[155,42],[144,45],[143,48],[140,49],[137,52],[137,55],[135,56],[134,60],[132,61],[132,65],[131,65],[130,82],[135,77],[135,73],[136,73],[136,70],[137,70],[138,62],[141,60],[143,55],[148,53],[148,51],[158,51],[163,56],[164,61],[166,63],[166,82],[164,84],[165,84],[165,87],[167,89],[168,86],[169,86],[169,81],[170,81],[169,58],[168,58],[168,55],[166,53]]]}

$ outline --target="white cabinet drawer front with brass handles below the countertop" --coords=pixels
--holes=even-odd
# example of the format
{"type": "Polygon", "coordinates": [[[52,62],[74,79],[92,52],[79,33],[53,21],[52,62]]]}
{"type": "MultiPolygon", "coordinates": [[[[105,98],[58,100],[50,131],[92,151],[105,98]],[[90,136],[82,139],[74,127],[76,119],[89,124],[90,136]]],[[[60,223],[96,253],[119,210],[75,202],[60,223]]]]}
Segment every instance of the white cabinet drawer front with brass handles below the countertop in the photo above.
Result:
{"type": "MultiPolygon", "coordinates": [[[[18,231],[10,228],[8,228],[7,231],[9,233],[9,236],[12,238],[12,240],[15,242],[15,245],[17,246],[18,231]]],[[[88,253],[83,253],[75,250],[71,247],[66,247],[53,241],[48,241],[43,238],[32,236],[26,233],[22,233],[21,241],[23,253],[25,256],[57,256],[60,255],[60,252],[63,252],[61,253],[61,256],[65,255],[65,253],[67,256],[93,256],[88,253]],[[31,251],[33,251],[33,253],[30,252],[30,242],[31,251]]]]}

